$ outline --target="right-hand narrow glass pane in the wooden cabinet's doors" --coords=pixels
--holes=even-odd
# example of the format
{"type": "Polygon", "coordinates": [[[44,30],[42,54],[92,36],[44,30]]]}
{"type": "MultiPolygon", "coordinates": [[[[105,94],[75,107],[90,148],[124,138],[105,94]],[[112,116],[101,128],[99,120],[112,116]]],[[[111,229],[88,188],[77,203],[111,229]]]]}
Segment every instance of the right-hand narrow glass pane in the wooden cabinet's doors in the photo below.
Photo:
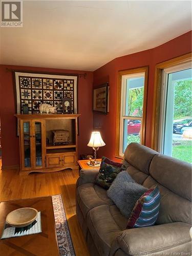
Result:
{"type": "Polygon", "coordinates": [[[35,166],[42,166],[42,123],[35,121],[35,166]]]}

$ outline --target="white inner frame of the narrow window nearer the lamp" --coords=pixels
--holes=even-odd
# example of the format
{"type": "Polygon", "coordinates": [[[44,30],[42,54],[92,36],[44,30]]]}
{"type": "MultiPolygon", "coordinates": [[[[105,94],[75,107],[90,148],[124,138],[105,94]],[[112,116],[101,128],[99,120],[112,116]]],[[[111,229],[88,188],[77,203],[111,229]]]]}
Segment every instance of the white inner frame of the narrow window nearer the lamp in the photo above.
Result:
{"type": "MultiPolygon", "coordinates": [[[[123,157],[123,123],[124,119],[133,119],[133,120],[141,120],[141,129],[142,129],[142,119],[143,117],[137,116],[125,116],[125,105],[126,105],[126,79],[127,78],[135,78],[143,76],[145,79],[145,72],[122,75],[121,80],[121,112],[120,112],[120,140],[119,140],[119,156],[123,157]]],[[[144,83],[145,84],[145,83],[144,83]]],[[[142,141],[142,131],[140,132],[140,140],[142,141]]]]}

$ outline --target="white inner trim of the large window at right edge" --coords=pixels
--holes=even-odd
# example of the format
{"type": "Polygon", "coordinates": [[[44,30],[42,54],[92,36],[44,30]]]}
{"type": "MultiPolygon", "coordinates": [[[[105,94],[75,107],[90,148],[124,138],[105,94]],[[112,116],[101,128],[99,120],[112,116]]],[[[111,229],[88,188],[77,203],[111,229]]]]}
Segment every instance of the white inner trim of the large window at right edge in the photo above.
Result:
{"type": "Polygon", "coordinates": [[[191,68],[191,61],[182,63],[177,66],[169,67],[162,71],[162,86],[161,86],[161,103],[160,103],[160,119],[159,119],[159,138],[158,138],[158,152],[163,154],[164,151],[164,136],[165,136],[165,112],[166,112],[166,96],[168,87],[168,74],[182,71],[191,68]]]}

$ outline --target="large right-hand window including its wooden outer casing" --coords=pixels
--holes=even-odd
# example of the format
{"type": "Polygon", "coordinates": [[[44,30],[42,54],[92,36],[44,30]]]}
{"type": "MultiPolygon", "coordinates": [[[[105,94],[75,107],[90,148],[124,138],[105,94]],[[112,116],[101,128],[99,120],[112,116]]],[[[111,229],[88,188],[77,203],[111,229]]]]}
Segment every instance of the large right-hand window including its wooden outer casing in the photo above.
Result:
{"type": "Polygon", "coordinates": [[[154,150],[192,162],[191,53],[156,65],[152,145],[154,150]]]}

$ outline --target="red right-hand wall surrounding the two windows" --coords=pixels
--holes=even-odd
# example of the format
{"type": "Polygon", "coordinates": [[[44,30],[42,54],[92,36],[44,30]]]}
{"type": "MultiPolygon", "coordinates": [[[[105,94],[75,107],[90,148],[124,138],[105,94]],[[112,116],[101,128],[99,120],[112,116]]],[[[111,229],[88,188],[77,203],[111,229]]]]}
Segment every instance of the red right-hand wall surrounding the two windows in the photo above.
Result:
{"type": "Polygon", "coordinates": [[[113,59],[106,65],[94,71],[94,87],[104,82],[110,85],[110,112],[108,115],[94,114],[94,130],[101,132],[106,143],[99,149],[99,155],[114,159],[116,139],[116,106],[117,106],[117,79],[118,71],[148,66],[148,96],[146,115],[146,146],[151,146],[152,113],[155,65],[191,52],[191,31],[166,42],[154,49],[122,56],[113,59]]]}

